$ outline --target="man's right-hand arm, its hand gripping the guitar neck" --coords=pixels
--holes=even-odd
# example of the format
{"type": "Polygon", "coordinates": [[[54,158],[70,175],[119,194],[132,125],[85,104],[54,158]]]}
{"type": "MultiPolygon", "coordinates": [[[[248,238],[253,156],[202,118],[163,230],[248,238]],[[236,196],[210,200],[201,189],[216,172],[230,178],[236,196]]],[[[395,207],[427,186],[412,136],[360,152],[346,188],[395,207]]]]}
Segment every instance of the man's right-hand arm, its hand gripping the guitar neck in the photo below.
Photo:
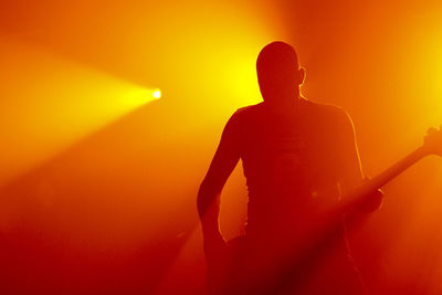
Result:
{"type": "MultiPolygon", "coordinates": [[[[360,186],[365,179],[358,147],[356,144],[355,127],[351,118],[347,113],[343,112],[339,118],[339,138],[340,157],[341,157],[341,186],[343,194],[345,196],[351,189],[360,186]]],[[[382,203],[383,193],[380,190],[373,191],[360,206],[357,207],[358,211],[372,212],[377,210],[382,203]]]]}

